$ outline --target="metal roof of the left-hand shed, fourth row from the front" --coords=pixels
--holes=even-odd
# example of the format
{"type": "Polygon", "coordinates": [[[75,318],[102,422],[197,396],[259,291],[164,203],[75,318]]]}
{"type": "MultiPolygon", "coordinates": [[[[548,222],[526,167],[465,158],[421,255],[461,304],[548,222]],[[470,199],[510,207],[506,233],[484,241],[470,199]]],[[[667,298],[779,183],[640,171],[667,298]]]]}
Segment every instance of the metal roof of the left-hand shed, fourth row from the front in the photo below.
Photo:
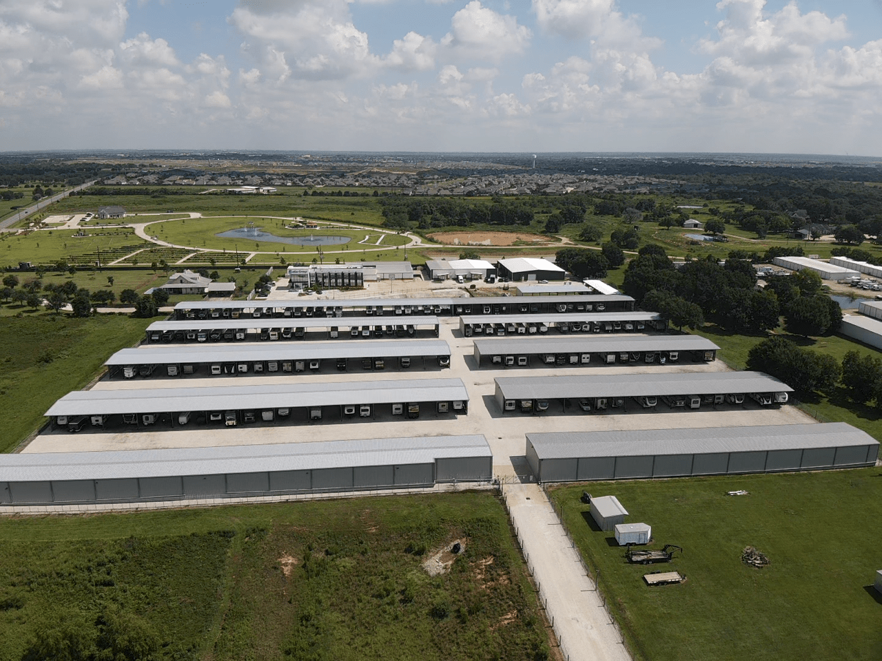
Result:
{"type": "Polygon", "coordinates": [[[307,316],[251,319],[182,319],[153,322],[151,331],[227,331],[264,328],[352,328],[353,326],[437,326],[437,316],[307,316]],[[407,320],[407,321],[405,321],[407,320]]]}

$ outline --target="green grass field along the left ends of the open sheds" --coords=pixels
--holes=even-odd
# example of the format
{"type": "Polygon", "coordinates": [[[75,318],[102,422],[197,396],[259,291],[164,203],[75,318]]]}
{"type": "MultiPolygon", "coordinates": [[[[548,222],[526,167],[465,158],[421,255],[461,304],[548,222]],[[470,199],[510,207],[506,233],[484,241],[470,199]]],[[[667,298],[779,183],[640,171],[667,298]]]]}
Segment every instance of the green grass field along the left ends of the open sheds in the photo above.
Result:
{"type": "Polygon", "coordinates": [[[0,451],[40,427],[56,399],[86,386],[104,361],[144,336],[153,319],[100,315],[85,319],[42,312],[0,323],[0,451]]]}

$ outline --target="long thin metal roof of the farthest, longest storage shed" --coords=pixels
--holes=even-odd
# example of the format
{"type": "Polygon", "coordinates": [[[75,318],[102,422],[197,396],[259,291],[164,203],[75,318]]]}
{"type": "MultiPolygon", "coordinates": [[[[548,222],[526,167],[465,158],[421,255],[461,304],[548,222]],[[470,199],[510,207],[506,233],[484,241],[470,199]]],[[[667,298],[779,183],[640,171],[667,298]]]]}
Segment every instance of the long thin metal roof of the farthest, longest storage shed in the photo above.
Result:
{"type": "Polygon", "coordinates": [[[634,301],[631,296],[624,294],[579,294],[569,296],[480,296],[459,298],[435,298],[435,299],[322,299],[310,301],[286,301],[281,299],[269,299],[266,301],[180,301],[175,305],[176,310],[189,309],[284,309],[284,308],[362,308],[365,306],[382,305],[383,308],[395,308],[396,306],[409,305],[436,306],[452,305],[497,305],[499,303],[609,303],[614,301],[634,301]]]}

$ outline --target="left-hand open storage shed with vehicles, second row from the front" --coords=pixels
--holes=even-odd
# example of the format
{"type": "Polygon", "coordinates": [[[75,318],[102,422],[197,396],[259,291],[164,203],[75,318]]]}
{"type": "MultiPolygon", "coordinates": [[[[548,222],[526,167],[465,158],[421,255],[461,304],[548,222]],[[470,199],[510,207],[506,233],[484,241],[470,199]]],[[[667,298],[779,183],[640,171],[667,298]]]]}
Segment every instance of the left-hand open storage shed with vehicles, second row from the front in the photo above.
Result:
{"type": "Polygon", "coordinates": [[[74,390],[45,414],[58,431],[395,420],[468,412],[460,379],[74,390]]]}

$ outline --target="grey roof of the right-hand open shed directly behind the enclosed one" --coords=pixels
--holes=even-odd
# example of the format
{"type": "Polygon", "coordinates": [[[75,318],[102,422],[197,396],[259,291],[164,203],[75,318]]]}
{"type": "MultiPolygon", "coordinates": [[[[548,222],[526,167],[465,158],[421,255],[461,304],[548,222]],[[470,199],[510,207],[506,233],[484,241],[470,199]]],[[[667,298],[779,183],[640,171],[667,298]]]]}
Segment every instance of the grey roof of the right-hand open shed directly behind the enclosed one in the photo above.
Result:
{"type": "Polygon", "coordinates": [[[505,399],[793,392],[787,383],[762,372],[500,376],[495,381],[505,399]]]}

